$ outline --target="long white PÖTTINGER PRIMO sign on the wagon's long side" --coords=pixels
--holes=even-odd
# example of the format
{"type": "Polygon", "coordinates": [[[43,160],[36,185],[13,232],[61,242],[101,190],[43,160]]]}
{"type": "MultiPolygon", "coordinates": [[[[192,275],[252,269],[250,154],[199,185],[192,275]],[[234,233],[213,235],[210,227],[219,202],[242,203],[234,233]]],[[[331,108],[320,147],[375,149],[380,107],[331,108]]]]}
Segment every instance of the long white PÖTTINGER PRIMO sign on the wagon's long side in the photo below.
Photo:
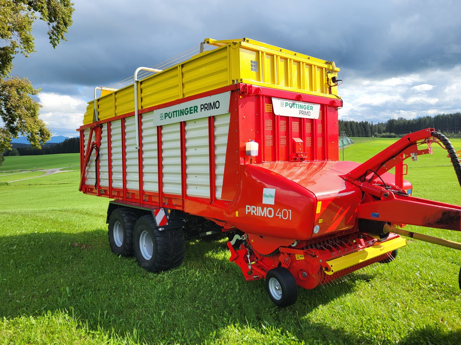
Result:
{"type": "Polygon", "coordinates": [[[171,105],[171,107],[156,109],[146,113],[146,115],[154,113],[154,126],[163,126],[170,123],[227,114],[229,113],[230,103],[231,92],[228,91],[171,105]]]}

